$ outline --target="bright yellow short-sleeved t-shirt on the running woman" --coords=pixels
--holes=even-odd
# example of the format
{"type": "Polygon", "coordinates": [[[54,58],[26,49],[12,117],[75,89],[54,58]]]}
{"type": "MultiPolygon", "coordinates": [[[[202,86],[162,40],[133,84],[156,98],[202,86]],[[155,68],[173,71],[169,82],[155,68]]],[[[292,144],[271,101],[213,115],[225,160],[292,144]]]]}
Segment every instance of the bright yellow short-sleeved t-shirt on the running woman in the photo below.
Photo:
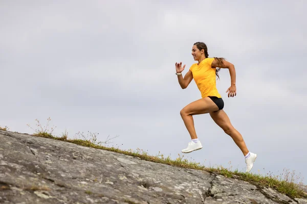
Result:
{"type": "Polygon", "coordinates": [[[211,68],[213,60],[214,58],[206,58],[201,61],[199,65],[198,63],[195,63],[190,67],[193,74],[193,79],[201,91],[202,98],[207,96],[222,98],[216,89],[216,68],[211,68]]]}

